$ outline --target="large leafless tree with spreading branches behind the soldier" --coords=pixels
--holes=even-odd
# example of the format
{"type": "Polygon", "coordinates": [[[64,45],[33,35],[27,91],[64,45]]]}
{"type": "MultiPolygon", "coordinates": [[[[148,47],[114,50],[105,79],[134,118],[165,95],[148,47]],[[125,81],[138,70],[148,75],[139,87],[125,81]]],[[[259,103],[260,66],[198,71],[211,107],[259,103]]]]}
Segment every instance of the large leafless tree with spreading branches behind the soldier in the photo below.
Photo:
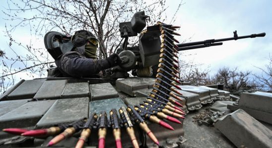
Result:
{"type": "MultiPolygon", "coordinates": [[[[98,51],[99,58],[105,58],[112,54],[118,47],[121,37],[119,34],[119,23],[130,21],[137,11],[145,11],[151,20],[149,25],[157,21],[165,22],[167,17],[165,10],[165,0],[7,0],[8,7],[3,10],[5,19],[11,21],[6,27],[6,36],[9,37],[9,49],[16,55],[14,44],[26,50],[25,55],[12,57],[8,54],[2,58],[0,76],[1,81],[11,80],[12,85],[16,79],[13,74],[19,72],[34,72],[44,74],[45,70],[54,60],[48,56],[47,51],[33,48],[33,44],[28,45],[15,41],[10,33],[18,28],[29,27],[31,35],[43,37],[48,31],[58,31],[65,34],[72,34],[77,30],[89,30],[100,41],[98,51]],[[9,61],[9,62],[8,62],[9,61]],[[12,63],[14,62],[14,63],[12,63]],[[20,63],[22,62],[22,63],[20,63]],[[23,65],[21,68],[18,65],[23,65]]],[[[182,0],[177,5],[177,11],[183,4],[182,0]]],[[[175,13],[170,19],[175,18],[175,13]]],[[[175,22],[172,19],[171,22],[175,22]]],[[[136,38],[129,40],[135,44],[136,38]]],[[[1,85],[0,91],[4,89],[1,85]]]]}

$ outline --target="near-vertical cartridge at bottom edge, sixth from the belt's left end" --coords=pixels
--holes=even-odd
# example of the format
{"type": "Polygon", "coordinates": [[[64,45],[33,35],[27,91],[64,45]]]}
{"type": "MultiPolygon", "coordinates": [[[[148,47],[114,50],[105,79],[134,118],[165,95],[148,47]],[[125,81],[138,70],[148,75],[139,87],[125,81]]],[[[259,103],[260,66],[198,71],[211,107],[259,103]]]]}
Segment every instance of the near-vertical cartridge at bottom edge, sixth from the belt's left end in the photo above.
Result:
{"type": "Polygon", "coordinates": [[[110,111],[111,126],[113,128],[113,137],[115,139],[116,148],[122,148],[120,119],[116,109],[110,111]]]}

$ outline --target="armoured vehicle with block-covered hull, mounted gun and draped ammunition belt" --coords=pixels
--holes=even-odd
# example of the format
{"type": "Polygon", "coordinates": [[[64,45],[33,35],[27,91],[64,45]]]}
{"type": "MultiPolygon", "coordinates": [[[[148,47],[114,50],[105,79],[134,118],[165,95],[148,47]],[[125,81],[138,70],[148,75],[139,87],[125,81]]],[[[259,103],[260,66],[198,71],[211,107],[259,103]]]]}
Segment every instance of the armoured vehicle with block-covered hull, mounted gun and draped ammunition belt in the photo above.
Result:
{"type": "MultiPolygon", "coordinates": [[[[265,33],[238,37],[234,32],[230,38],[175,44],[177,26],[158,22],[142,31],[147,18],[141,11],[120,23],[125,41],[117,53],[123,64],[103,78],[58,77],[53,67],[48,77],[20,80],[4,92],[0,147],[271,147],[271,94],[245,93],[235,102],[222,85],[192,86],[180,80],[175,64],[180,50],[265,33]],[[138,34],[138,46],[128,47],[128,38],[138,34]],[[158,69],[155,78],[128,74],[150,66],[158,69]],[[207,112],[212,104],[212,113],[207,112]]],[[[45,46],[54,59],[72,50],[70,37],[46,34],[45,46]]]]}

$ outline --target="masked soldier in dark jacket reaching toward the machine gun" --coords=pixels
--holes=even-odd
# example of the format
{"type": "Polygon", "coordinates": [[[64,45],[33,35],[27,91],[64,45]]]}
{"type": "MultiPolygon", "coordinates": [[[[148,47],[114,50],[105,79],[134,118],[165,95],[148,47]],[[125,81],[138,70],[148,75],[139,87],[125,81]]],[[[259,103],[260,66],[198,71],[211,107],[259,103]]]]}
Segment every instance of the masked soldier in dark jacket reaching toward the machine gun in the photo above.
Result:
{"type": "Polygon", "coordinates": [[[55,61],[64,76],[96,77],[100,71],[117,66],[122,62],[115,53],[108,58],[97,60],[96,51],[99,41],[89,31],[75,32],[71,41],[74,49],[55,61]]]}

